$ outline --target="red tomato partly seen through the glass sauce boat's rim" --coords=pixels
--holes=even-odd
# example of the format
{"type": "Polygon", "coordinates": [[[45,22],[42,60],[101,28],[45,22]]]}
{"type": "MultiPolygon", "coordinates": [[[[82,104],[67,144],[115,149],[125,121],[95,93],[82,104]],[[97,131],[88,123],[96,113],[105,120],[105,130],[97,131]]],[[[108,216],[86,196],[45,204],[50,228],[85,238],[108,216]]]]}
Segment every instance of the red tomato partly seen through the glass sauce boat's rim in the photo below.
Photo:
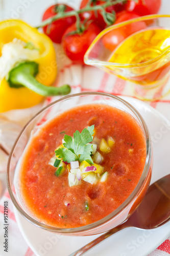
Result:
{"type": "MultiPolygon", "coordinates": [[[[114,24],[125,22],[126,20],[137,17],[140,16],[132,12],[122,11],[117,14],[117,19],[114,24]]],[[[144,22],[138,22],[135,24],[132,23],[126,25],[125,27],[112,30],[103,37],[103,44],[107,49],[113,51],[129,35],[145,28],[147,28],[147,25],[144,22]]]]}

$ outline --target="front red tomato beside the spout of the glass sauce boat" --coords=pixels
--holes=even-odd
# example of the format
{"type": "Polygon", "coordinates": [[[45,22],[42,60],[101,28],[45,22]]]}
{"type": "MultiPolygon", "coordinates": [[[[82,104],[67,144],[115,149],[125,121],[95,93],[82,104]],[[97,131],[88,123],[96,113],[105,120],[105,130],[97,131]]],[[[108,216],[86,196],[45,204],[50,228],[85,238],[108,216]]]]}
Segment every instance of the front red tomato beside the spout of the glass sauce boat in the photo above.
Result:
{"type": "Polygon", "coordinates": [[[84,64],[83,58],[91,42],[101,29],[94,23],[90,23],[88,29],[82,34],[69,35],[76,30],[76,24],[71,25],[62,37],[62,47],[66,55],[74,62],[84,64]]]}

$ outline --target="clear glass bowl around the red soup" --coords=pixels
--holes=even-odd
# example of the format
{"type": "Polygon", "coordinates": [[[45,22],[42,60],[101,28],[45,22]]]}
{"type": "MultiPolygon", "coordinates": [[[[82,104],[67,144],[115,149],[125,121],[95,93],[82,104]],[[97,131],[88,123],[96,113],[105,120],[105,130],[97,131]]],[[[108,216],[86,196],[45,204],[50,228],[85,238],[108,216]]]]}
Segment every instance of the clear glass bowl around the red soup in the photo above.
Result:
{"type": "Polygon", "coordinates": [[[14,143],[14,146],[12,148],[9,161],[8,161],[8,167],[7,167],[8,190],[9,190],[11,200],[14,206],[16,207],[16,209],[19,211],[19,213],[23,217],[25,217],[28,221],[37,225],[38,227],[41,227],[48,231],[56,232],[59,234],[67,234],[72,236],[86,236],[91,234],[97,234],[97,233],[102,233],[104,231],[107,231],[119,225],[120,223],[124,222],[133,213],[133,211],[136,209],[138,204],[143,199],[145,192],[147,191],[148,186],[150,184],[152,162],[153,162],[152,161],[152,145],[151,145],[151,138],[150,138],[148,127],[145,124],[141,115],[138,113],[137,110],[135,110],[135,108],[131,104],[129,104],[128,102],[126,102],[125,100],[117,96],[113,96],[106,93],[94,92],[94,93],[74,94],[74,95],[65,96],[51,103],[50,105],[46,106],[44,109],[38,112],[23,128],[23,130],[21,131],[17,140],[14,143]],[[20,159],[16,163],[16,159],[15,159],[16,152],[18,152],[18,148],[20,145],[20,141],[22,141],[22,138],[23,137],[25,138],[27,136],[28,142],[29,142],[30,136],[34,134],[34,132],[37,131],[39,127],[41,127],[41,124],[44,121],[48,121],[52,119],[54,116],[61,114],[63,111],[70,110],[75,106],[86,105],[90,103],[92,104],[100,103],[100,104],[107,104],[107,105],[114,106],[115,108],[118,108],[120,110],[123,110],[129,113],[139,123],[144,134],[145,143],[147,145],[145,165],[143,168],[142,175],[135,189],[133,190],[131,195],[126,199],[126,201],[124,201],[123,204],[121,204],[116,210],[111,212],[111,214],[104,217],[103,219],[89,225],[75,227],[75,228],[57,228],[57,227],[46,225],[44,223],[39,222],[36,219],[36,217],[34,217],[31,214],[31,212],[28,210],[25,204],[23,204],[21,194],[20,194],[20,185],[19,185],[20,181],[19,181],[19,172],[18,172],[22,153],[20,151],[20,159]]]}

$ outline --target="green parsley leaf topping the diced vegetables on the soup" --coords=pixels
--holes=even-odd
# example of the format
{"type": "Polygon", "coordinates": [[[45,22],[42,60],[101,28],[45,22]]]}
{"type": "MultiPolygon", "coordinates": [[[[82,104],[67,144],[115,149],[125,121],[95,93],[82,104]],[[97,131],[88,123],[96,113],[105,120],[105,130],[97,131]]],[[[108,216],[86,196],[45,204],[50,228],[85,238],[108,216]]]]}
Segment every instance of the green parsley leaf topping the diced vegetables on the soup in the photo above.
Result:
{"type": "Polygon", "coordinates": [[[58,158],[62,158],[64,162],[70,163],[71,161],[86,161],[89,164],[93,164],[91,159],[92,144],[88,144],[93,140],[94,125],[88,126],[87,129],[83,129],[80,133],[76,131],[73,138],[68,135],[64,135],[63,143],[64,147],[55,151],[58,158]]]}

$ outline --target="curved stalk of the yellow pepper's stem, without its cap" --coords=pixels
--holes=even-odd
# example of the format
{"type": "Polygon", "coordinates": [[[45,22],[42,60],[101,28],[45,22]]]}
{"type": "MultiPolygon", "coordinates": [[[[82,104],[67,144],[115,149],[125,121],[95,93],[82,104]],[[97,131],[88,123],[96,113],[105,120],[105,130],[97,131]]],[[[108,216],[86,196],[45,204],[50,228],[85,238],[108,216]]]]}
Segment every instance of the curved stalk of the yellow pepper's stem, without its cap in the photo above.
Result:
{"type": "Polygon", "coordinates": [[[34,76],[30,74],[19,73],[15,80],[17,80],[18,83],[22,84],[22,86],[25,86],[31,91],[42,96],[66,95],[70,93],[70,87],[68,86],[68,84],[65,84],[61,87],[44,86],[42,83],[38,82],[34,76]]]}

